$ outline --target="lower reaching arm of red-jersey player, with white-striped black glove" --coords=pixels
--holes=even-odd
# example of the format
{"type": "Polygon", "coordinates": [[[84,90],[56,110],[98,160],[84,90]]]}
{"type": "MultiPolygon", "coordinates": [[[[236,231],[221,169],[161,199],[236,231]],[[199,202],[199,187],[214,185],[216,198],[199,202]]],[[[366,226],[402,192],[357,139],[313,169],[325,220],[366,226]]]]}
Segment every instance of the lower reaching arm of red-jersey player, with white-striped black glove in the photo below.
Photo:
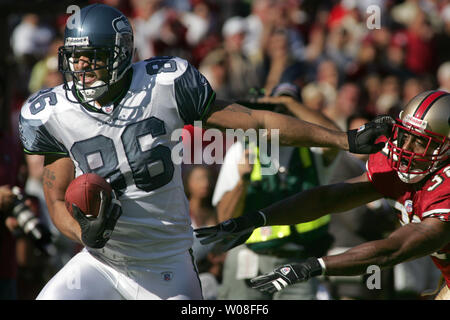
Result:
{"type": "Polygon", "coordinates": [[[251,279],[250,283],[255,289],[273,293],[321,274],[360,275],[366,273],[371,265],[392,267],[429,255],[449,241],[450,224],[429,218],[421,223],[407,224],[386,239],[363,243],[339,255],[308,258],[302,263],[279,266],[270,273],[251,279]]]}

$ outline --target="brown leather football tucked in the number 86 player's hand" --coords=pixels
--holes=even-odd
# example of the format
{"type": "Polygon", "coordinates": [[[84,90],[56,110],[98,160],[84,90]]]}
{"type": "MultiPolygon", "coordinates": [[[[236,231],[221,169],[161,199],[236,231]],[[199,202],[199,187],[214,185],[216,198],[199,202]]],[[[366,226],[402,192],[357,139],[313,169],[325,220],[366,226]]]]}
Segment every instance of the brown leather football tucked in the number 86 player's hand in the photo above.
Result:
{"type": "Polygon", "coordinates": [[[111,201],[112,188],[109,183],[95,173],[86,173],[72,180],[66,190],[66,208],[73,215],[72,203],[88,217],[96,217],[100,209],[100,192],[106,191],[107,203],[111,201]]]}

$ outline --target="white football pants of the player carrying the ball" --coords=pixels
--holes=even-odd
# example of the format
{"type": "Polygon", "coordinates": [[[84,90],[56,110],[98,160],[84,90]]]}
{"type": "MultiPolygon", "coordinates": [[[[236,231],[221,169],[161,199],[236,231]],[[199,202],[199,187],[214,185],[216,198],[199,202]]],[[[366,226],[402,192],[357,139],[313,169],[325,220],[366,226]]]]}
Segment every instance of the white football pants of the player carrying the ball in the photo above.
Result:
{"type": "Polygon", "coordinates": [[[200,280],[189,252],[157,263],[114,262],[113,266],[84,249],[46,284],[36,299],[202,299],[200,280]]]}

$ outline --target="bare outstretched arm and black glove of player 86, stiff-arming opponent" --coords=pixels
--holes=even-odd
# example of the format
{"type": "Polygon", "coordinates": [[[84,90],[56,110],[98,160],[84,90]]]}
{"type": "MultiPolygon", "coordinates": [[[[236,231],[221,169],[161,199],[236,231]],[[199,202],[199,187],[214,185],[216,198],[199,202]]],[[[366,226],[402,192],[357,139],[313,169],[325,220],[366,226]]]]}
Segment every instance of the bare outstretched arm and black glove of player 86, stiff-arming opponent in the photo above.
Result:
{"type": "Polygon", "coordinates": [[[360,128],[346,132],[331,130],[291,116],[252,110],[236,103],[216,100],[204,119],[207,127],[222,130],[232,129],[267,129],[269,138],[279,130],[281,145],[304,147],[330,147],[349,150],[353,153],[375,153],[384,144],[375,144],[381,135],[391,132],[391,118],[374,120],[360,128]]]}

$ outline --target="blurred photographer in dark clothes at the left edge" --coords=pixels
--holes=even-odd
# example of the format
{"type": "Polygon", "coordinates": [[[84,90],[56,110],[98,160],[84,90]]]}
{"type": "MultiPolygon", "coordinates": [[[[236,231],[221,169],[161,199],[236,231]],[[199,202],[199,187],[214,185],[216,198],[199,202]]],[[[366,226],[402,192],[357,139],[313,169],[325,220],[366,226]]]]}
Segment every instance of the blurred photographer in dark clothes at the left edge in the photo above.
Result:
{"type": "MultiPolygon", "coordinates": [[[[22,149],[11,129],[0,131],[0,300],[26,299],[37,294],[43,274],[33,269],[45,264],[42,257],[36,256],[35,247],[25,237],[19,224],[12,216],[12,205],[16,195],[14,186],[23,190],[26,180],[26,166],[22,149]],[[36,273],[28,273],[33,269],[36,273]],[[32,278],[29,278],[29,275],[32,278]]],[[[34,210],[35,202],[26,202],[34,210]]]]}

